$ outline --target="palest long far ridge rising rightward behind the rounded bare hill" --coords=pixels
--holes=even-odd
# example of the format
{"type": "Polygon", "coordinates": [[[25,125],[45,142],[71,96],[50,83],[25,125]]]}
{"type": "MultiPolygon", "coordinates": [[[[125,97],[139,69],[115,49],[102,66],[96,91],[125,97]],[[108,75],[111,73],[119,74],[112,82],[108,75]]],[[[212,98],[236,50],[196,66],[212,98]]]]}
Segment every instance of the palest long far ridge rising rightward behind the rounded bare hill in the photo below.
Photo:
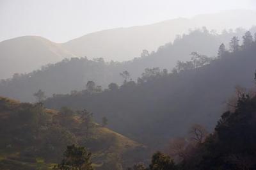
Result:
{"type": "Polygon", "coordinates": [[[191,19],[99,31],[63,43],[63,47],[81,57],[124,61],[139,57],[143,49],[156,51],[159,46],[173,42],[177,35],[188,33],[189,29],[203,26],[216,31],[237,27],[248,29],[256,23],[255,18],[256,12],[246,10],[198,15],[191,19]]]}

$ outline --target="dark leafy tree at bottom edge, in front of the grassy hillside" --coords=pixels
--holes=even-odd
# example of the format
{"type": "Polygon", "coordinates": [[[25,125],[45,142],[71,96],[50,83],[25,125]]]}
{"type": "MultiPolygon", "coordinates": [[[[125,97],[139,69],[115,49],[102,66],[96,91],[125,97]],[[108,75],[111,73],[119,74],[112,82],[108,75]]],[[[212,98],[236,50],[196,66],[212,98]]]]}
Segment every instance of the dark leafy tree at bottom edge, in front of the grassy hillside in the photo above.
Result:
{"type": "Polygon", "coordinates": [[[88,152],[83,146],[67,146],[64,158],[56,169],[61,170],[93,170],[92,153],[88,152]]]}

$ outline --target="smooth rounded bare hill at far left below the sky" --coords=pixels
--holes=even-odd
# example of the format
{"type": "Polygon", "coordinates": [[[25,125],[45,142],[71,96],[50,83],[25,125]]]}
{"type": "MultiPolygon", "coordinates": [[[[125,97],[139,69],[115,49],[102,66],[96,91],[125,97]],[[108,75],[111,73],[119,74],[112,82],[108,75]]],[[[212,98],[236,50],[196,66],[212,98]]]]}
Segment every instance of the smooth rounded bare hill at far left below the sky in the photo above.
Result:
{"type": "Polygon", "coordinates": [[[0,42],[0,79],[14,73],[28,73],[73,54],[40,36],[22,36],[0,42]]]}

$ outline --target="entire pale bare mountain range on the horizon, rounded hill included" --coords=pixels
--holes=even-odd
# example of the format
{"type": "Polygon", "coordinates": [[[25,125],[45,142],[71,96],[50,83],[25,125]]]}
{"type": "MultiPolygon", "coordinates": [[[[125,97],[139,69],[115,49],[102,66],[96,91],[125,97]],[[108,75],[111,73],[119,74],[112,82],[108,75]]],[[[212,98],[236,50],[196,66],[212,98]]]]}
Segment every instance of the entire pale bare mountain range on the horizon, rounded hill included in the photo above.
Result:
{"type": "MultiPolygon", "coordinates": [[[[139,57],[143,49],[149,52],[175,40],[189,29],[248,29],[256,23],[256,12],[234,10],[198,15],[191,19],[172,19],[147,26],[109,29],[81,36],[66,43],[54,43],[38,36],[23,36],[0,42],[0,79],[13,73],[28,73],[47,63],[64,58],[104,58],[125,61],[139,57]],[[29,63],[29,64],[28,64],[29,63]]],[[[174,62],[177,59],[174,60],[174,62]]]]}

